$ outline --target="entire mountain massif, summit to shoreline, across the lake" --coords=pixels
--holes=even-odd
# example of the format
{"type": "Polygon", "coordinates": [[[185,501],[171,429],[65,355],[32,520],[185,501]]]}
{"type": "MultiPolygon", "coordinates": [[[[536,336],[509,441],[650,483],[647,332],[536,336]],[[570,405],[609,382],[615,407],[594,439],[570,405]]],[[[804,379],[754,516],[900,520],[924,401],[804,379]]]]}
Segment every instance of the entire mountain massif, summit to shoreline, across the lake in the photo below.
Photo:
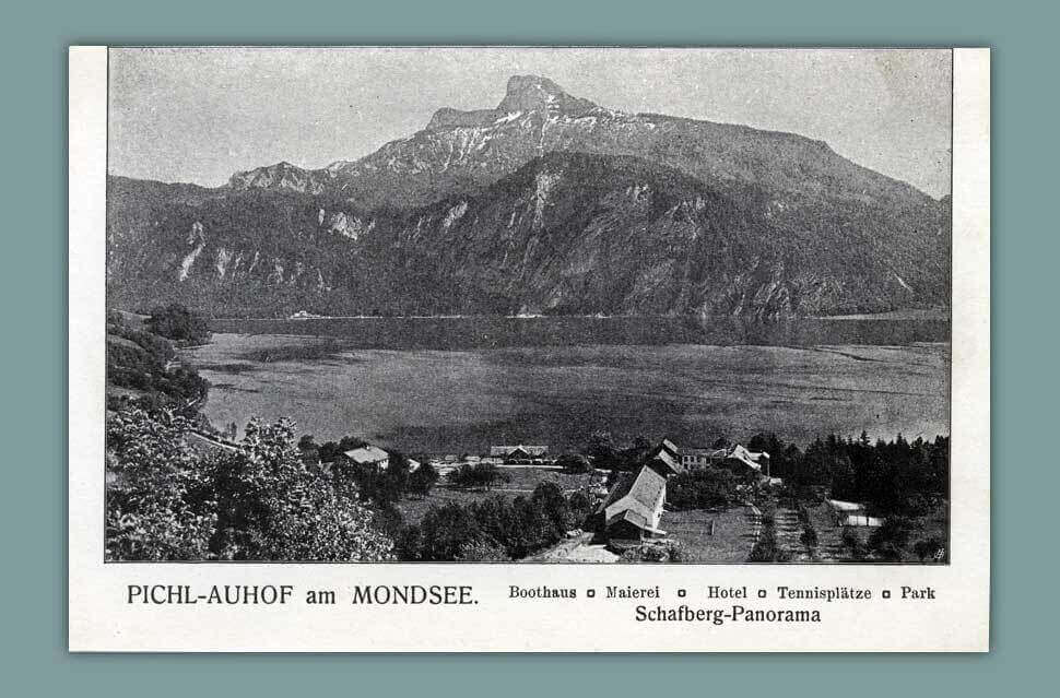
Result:
{"type": "Polygon", "coordinates": [[[109,181],[127,304],[790,317],[949,298],[945,202],[820,141],[614,111],[532,75],[357,161],[109,181]]]}

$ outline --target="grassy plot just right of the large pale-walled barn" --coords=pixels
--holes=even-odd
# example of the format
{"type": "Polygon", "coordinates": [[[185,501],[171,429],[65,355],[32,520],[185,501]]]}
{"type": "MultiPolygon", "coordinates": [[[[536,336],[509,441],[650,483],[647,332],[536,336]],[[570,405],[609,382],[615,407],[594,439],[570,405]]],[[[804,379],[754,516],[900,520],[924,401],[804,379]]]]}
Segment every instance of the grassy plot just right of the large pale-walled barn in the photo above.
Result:
{"type": "Polygon", "coordinates": [[[754,529],[745,507],[725,511],[667,511],[662,527],[670,537],[679,541],[690,563],[745,563],[754,546],[754,529]],[[714,535],[709,534],[715,522],[714,535]]]}

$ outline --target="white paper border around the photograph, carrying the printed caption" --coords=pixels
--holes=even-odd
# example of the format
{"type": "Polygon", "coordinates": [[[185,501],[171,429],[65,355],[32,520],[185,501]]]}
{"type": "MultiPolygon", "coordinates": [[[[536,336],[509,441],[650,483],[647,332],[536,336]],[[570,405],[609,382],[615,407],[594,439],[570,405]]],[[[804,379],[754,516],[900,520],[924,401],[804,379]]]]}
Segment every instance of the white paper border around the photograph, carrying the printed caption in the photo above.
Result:
{"type": "MultiPolygon", "coordinates": [[[[954,52],[952,521],[949,566],[239,565],[103,563],[107,55],[70,49],[71,651],[985,651],[989,646],[988,49],[954,52]],[[475,606],[141,606],[126,584],[472,584],[475,606]],[[629,603],[509,602],[508,584],[931,585],[932,603],[798,602],[816,625],[636,623],[629,603]]],[[[690,594],[691,595],[691,594],[690,594]]],[[[749,600],[749,606],[754,600],[749,600]]],[[[710,606],[696,599],[694,604],[710,606]]]]}

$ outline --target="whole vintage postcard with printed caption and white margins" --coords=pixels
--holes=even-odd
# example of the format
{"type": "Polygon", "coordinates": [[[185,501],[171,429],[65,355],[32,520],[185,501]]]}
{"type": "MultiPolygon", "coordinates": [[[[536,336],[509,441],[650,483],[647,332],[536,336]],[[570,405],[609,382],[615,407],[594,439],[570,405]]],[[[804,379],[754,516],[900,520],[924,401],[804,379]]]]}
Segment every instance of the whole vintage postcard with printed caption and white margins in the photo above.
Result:
{"type": "Polygon", "coordinates": [[[985,651],[989,51],[70,50],[70,649],[985,651]]]}

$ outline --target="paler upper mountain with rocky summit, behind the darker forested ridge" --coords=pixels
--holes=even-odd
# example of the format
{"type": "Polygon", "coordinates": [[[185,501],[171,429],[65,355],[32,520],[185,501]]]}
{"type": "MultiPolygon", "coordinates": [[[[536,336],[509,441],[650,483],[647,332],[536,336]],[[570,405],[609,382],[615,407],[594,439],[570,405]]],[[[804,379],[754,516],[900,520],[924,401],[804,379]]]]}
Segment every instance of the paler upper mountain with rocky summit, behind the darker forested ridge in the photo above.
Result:
{"type": "MultiPolygon", "coordinates": [[[[438,109],[426,127],[356,161],[305,170],[286,163],[233,177],[235,189],[305,191],[305,182],[358,205],[422,205],[488,185],[553,151],[633,155],[693,177],[778,193],[871,205],[922,203],[910,185],[861,167],[822,141],[657,114],[626,114],[572,97],[545,78],[515,75],[495,109],[438,109]],[[288,173],[279,177],[278,171],[288,173]]],[[[318,191],[318,192],[319,192],[318,191]]],[[[784,203],[782,201],[780,203],[784,203]]]]}

